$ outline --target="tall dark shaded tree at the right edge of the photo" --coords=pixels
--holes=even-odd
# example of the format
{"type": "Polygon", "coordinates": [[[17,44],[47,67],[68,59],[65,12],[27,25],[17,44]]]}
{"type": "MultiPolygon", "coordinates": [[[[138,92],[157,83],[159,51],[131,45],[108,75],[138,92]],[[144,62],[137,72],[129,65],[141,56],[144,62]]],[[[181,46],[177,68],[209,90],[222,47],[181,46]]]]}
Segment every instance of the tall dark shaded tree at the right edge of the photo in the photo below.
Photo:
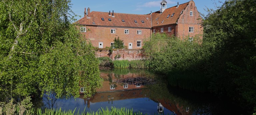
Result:
{"type": "Polygon", "coordinates": [[[250,111],[256,110],[255,6],[255,0],[227,0],[203,24],[203,44],[212,49],[207,64],[211,91],[250,111]]]}

